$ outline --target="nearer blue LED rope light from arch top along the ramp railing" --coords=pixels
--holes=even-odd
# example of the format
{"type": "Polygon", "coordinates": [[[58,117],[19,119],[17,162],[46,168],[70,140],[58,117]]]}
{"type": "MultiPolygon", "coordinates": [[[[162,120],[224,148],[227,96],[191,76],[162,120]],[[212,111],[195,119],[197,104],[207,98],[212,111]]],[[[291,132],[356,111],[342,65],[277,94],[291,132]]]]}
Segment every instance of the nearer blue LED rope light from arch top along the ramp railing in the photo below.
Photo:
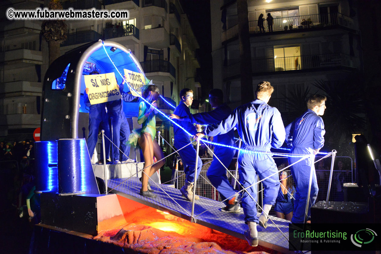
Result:
{"type": "MultiPolygon", "coordinates": [[[[125,81],[125,83],[127,84],[128,88],[130,88],[130,91],[134,91],[136,94],[138,94],[136,92],[135,89],[133,89],[129,84],[128,82],[125,80],[124,76],[122,75],[122,73],[119,72],[118,68],[116,67],[114,61],[112,61],[112,59],[110,58],[109,54],[107,53],[107,50],[106,48],[104,47],[104,42],[102,41],[102,46],[103,46],[103,49],[104,49],[104,52],[106,53],[106,55],[108,56],[108,58],[110,59],[110,61],[112,62],[112,64],[114,65],[115,69],[118,71],[120,77],[122,77],[122,79],[125,81]]],[[[128,56],[131,58],[130,54],[128,54],[128,56]]],[[[131,58],[131,60],[134,62],[134,60],[131,58]]],[[[135,62],[134,62],[135,63],[135,62]]],[[[136,65],[136,63],[135,63],[136,65]]],[[[136,65],[137,66],[137,65],[136,65]]],[[[139,68],[138,68],[139,69],[139,68]]],[[[140,70],[140,69],[139,69],[140,70]]],[[[143,73],[142,73],[143,74],[143,73]]],[[[146,77],[146,76],[144,76],[146,77]]],[[[141,97],[143,99],[143,101],[147,102],[151,107],[154,107],[152,104],[150,104],[150,102],[148,102],[145,98],[143,98],[141,95],[139,95],[139,97],[141,97]]],[[[186,129],[184,129],[182,126],[180,126],[178,123],[174,122],[171,118],[169,118],[165,113],[161,112],[159,109],[157,109],[156,107],[154,107],[157,112],[161,113],[165,118],[167,118],[168,120],[170,120],[174,125],[178,126],[180,129],[182,129],[183,131],[185,131],[186,134],[188,134],[189,136],[193,137],[193,135],[191,133],[189,133],[186,129]]],[[[297,157],[297,158],[300,158],[300,157],[304,157],[305,155],[290,155],[288,153],[272,153],[272,152],[262,152],[262,151],[252,151],[252,150],[245,150],[245,149],[242,149],[242,148],[238,148],[238,147],[234,147],[234,146],[231,146],[231,145],[224,145],[224,144],[218,144],[218,143],[215,143],[215,142],[211,142],[211,141],[208,141],[208,140],[205,140],[205,142],[209,143],[209,144],[212,144],[212,145],[219,145],[219,146],[223,146],[223,147],[228,147],[228,148],[231,148],[231,149],[235,149],[235,150],[239,150],[240,152],[243,152],[243,153],[259,153],[259,154],[269,154],[269,155],[279,155],[279,156],[286,156],[286,157],[297,157]]]]}

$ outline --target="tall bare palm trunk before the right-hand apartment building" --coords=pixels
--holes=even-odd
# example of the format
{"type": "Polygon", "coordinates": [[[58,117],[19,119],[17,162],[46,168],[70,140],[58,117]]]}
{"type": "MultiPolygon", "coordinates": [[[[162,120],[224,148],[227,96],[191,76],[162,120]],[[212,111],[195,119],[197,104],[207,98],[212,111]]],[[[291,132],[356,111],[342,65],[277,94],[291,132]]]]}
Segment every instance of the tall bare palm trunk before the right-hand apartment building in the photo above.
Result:
{"type": "Polygon", "coordinates": [[[237,0],[237,13],[241,72],[241,103],[245,104],[252,101],[254,96],[247,0],[237,0]]]}

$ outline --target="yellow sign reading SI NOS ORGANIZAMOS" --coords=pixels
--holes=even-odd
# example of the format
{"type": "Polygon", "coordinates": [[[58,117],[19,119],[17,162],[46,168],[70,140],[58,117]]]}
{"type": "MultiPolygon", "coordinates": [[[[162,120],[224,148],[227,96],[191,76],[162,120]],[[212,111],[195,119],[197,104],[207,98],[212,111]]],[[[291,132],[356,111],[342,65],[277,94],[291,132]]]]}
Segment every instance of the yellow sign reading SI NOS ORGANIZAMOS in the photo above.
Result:
{"type": "Polygon", "coordinates": [[[122,98],[114,72],[86,75],[85,85],[89,89],[87,95],[91,105],[122,98]]]}

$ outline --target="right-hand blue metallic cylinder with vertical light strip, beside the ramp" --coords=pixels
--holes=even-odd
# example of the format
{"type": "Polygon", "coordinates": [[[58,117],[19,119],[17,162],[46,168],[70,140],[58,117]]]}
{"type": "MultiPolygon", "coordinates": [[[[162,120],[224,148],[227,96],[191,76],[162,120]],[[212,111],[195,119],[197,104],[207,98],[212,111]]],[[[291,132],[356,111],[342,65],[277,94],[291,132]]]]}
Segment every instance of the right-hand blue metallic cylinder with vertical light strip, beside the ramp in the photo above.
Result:
{"type": "Polygon", "coordinates": [[[85,139],[58,140],[58,192],[99,194],[85,139]]]}

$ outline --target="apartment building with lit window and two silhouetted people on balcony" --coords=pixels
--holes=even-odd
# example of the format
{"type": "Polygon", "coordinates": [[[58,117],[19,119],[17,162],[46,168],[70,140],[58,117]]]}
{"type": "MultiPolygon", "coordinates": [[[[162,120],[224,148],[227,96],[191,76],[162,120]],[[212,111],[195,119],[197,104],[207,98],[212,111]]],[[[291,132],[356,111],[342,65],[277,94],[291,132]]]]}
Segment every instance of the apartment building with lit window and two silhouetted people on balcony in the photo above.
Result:
{"type": "MultiPolygon", "coordinates": [[[[314,81],[341,80],[362,67],[358,22],[351,1],[248,0],[253,84],[269,80],[271,105],[288,112],[285,97],[314,81]],[[269,32],[266,18],[273,19],[269,32]],[[265,32],[258,18],[263,14],[265,32]]],[[[240,105],[237,1],[211,0],[213,85],[227,91],[232,108],[240,105]],[[221,20],[221,21],[220,21],[221,20]]],[[[255,89],[254,89],[255,90],[255,89]]]]}

